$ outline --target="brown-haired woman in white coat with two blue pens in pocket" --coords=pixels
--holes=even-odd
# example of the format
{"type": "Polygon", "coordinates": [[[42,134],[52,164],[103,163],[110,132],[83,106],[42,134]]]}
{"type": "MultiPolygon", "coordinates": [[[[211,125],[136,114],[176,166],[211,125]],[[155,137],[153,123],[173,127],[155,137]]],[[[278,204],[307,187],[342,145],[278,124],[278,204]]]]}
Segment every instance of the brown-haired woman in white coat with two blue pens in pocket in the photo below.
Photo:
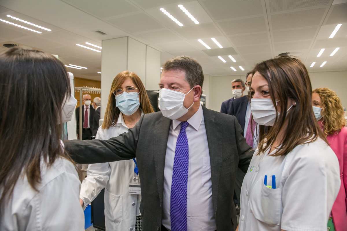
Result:
{"type": "Polygon", "coordinates": [[[238,230],[327,230],[340,171],[313,114],[307,69],[281,56],[254,71],[251,112],[260,140],[241,188],[238,230]]]}

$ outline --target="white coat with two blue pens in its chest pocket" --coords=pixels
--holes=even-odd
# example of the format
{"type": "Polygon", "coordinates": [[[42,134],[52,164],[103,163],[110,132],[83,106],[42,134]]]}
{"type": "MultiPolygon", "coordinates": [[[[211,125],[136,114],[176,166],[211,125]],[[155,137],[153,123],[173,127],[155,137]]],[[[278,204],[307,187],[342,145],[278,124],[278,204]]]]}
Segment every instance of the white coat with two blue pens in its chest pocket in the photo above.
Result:
{"type": "Polygon", "coordinates": [[[326,231],[340,189],[331,148],[318,138],[286,156],[258,155],[257,150],[241,188],[239,231],[326,231]],[[264,185],[265,175],[268,186],[275,175],[276,189],[264,185]]]}

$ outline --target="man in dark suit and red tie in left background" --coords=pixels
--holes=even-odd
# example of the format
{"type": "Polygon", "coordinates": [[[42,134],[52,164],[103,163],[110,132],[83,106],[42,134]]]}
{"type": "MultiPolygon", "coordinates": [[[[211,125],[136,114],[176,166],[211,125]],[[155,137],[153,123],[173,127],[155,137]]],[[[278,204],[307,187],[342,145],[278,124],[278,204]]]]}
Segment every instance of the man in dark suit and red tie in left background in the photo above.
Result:
{"type": "MultiPolygon", "coordinates": [[[[90,140],[92,136],[92,126],[94,117],[94,108],[91,106],[92,97],[88,94],[83,95],[82,105],[82,140],[90,140]]],[[[76,108],[77,136],[79,137],[79,107],[76,108]]]]}

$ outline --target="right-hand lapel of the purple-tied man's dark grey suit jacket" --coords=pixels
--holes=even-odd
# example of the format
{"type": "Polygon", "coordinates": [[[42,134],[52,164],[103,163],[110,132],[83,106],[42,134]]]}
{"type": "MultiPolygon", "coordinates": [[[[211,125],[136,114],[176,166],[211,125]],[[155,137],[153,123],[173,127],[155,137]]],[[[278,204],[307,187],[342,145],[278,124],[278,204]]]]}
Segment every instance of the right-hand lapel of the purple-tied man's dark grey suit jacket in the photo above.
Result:
{"type": "Polygon", "coordinates": [[[209,145],[211,162],[211,180],[212,180],[212,200],[214,213],[217,211],[219,176],[222,162],[222,134],[219,131],[219,124],[215,122],[214,115],[203,107],[204,121],[207,142],[209,145]]]}

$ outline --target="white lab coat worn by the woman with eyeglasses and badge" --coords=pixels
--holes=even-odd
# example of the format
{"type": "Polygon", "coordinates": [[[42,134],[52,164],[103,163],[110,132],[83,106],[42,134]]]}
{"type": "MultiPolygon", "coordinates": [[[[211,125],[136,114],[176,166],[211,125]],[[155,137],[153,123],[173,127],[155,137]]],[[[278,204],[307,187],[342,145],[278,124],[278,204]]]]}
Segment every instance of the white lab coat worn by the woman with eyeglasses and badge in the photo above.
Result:
{"type": "MultiPolygon", "coordinates": [[[[128,129],[120,113],[115,126],[109,129],[99,127],[96,139],[108,140],[128,132],[128,129]]],[[[86,206],[105,188],[105,226],[108,231],[135,231],[136,216],[141,215],[141,195],[129,194],[129,184],[135,182],[134,168],[133,160],[95,163],[88,166],[80,198],[86,206]]]]}

